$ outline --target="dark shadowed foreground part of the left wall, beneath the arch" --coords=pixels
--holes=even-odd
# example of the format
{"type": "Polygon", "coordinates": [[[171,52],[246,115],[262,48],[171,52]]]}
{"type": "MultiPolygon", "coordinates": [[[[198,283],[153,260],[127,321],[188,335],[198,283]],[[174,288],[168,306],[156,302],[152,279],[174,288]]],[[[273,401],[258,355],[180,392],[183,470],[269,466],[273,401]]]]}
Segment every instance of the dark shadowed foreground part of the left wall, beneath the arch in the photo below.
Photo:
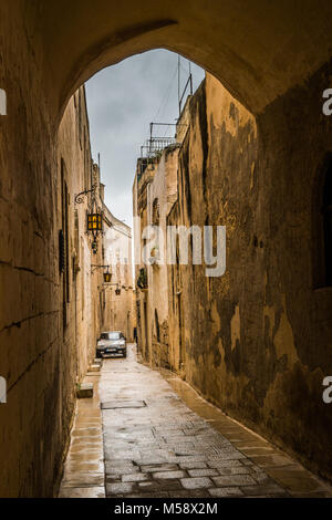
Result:
{"type": "MultiPolygon", "coordinates": [[[[60,330],[56,148],[21,3],[0,7],[1,497],[52,495],[73,410],[74,363],[60,330]]],[[[34,52],[42,60],[38,38],[34,52]]]]}

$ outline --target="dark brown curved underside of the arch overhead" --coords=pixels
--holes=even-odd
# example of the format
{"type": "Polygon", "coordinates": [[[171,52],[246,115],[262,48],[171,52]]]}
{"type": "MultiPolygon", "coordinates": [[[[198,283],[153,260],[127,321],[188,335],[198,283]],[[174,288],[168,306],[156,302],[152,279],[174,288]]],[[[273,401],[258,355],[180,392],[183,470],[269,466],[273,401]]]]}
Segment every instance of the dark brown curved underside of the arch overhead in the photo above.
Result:
{"type": "Polygon", "coordinates": [[[332,54],[328,0],[319,8],[314,0],[39,4],[30,9],[58,118],[73,92],[98,70],[156,48],[178,52],[212,73],[252,113],[302,83],[332,54]]]}

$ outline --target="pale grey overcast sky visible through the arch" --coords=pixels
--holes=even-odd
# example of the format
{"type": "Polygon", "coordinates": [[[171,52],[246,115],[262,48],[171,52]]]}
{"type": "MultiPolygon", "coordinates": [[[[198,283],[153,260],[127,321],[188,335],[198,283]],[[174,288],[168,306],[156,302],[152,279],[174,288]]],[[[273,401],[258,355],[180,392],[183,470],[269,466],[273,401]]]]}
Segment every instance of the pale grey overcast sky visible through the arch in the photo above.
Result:
{"type": "MultiPolygon", "coordinates": [[[[180,60],[185,86],[188,61],[180,60]]],[[[204,70],[191,64],[194,90],[204,70]]],[[[95,74],[86,84],[92,154],[101,154],[105,202],[113,215],[132,226],[132,187],[141,145],[149,123],[178,117],[177,54],[155,50],[124,60],[95,74]]],[[[166,135],[174,135],[174,127],[166,135]]],[[[165,135],[160,127],[159,135],[165,135]]]]}

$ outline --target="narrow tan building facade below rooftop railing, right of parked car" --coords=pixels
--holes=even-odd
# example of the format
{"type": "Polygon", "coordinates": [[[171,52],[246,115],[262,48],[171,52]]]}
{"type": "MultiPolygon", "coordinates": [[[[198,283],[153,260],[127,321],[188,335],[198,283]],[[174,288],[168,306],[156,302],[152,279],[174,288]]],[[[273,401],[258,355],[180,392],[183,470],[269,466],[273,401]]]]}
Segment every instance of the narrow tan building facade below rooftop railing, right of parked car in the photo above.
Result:
{"type": "Polygon", "coordinates": [[[142,270],[147,279],[147,287],[137,287],[136,291],[138,347],[157,366],[168,366],[169,362],[165,239],[167,214],[177,197],[178,149],[178,145],[172,145],[153,159],[138,159],[133,186],[134,218],[137,219],[136,284],[142,270]],[[142,236],[147,227],[151,229],[149,239],[142,236]],[[160,236],[155,236],[154,229],[158,229],[160,236]],[[149,254],[147,263],[139,262],[144,247],[149,254]]]}

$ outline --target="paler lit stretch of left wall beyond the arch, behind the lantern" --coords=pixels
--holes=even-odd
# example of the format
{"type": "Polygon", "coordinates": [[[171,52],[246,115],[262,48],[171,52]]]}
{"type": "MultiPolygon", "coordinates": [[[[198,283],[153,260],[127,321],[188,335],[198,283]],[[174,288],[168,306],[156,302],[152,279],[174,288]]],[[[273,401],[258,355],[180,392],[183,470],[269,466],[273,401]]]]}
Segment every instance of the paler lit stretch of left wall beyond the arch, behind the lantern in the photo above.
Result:
{"type": "MultiPolygon", "coordinates": [[[[100,298],[102,271],[92,264],[103,263],[102,240],[96,254],[92,252],[92,237],[86,233],[86,211],[92,194],[75,195],[96,186],[95,197],[102,205],[102,189],[97,165],[91,157],[89,118],[85,91],[80,89],[70,101],[59,128],[58,228],[65,239],[65,267],[60,278],[60,304],[63,339],[71,356],[71,378],[64,381],[73,392],[73,382],[82,381],[95,355],[95,339],[104,315],[100,298]]],[[[102,294],[103,297],[103,294],[102,294]]],[[[64,396],[65,398],[65,396],[64,396]]]]}

